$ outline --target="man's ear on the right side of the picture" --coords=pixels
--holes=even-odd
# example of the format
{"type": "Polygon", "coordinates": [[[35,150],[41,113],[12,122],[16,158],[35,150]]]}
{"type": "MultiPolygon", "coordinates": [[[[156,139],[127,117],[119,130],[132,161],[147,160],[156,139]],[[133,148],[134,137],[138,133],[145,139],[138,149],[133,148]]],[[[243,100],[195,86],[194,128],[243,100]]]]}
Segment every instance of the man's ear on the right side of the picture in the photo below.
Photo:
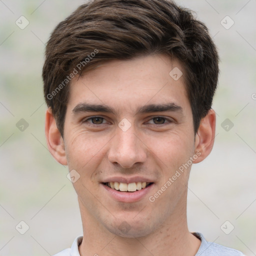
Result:
{"type": "Polygon", "coordinates": [[[210,109],[200,121],[199,128],[195,135],[194,153],[198,157],[193,161],[202,161],[210,153],[215,138],[216,114],[210,109]]]}

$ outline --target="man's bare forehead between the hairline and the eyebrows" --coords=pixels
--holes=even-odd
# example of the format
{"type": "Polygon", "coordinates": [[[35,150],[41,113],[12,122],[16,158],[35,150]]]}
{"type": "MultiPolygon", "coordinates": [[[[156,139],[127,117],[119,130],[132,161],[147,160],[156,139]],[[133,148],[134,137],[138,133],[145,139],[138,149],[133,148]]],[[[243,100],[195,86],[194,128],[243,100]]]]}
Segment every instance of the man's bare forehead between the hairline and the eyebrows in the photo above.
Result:
{"type": "Polygon", "coordinates": [[[102,63],[71,81],[68,108],[82,102],[130,111],[169,102],[189,107],[183,73],[179,61],[166,55],[102,63]]]}

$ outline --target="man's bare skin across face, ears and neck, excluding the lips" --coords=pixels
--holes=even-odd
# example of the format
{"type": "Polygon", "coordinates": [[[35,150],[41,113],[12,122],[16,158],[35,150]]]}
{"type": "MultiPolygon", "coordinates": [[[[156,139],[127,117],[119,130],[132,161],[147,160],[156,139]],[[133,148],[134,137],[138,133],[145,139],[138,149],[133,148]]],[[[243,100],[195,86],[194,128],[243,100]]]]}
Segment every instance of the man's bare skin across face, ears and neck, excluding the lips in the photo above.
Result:
{"type": "Polygon", "coordinates": [[[200,240],[188,231],[186,220],[191,165],[158,198],[149,200],[189,157],[197,152],[193,163],[203,160],[214,141],[212,109],[194,135],[183,76],[175,81],[169,75],[174,67],[184,73],[176,59],[147,55],[112,60],[73,79],[64,139],[51,110],[46,111],[45,132],[51,154],[80,175],[73,186],[83,225],[82,256],[192,256],[199,248],[200,240]],[[82,103],[104,105],[114,112],[81,111],[82,103]],[[169,103],[179,109],[137,111],[149,104],[169,103]],[[89,119],[93,116],[101,119],[89,119]],[[126,131],[118,126],[123,118],[131,125],[126,131]],[[147,177],[153,184],[138,201],[121,202],[101,183],[113,176],[147,177]],[[123,223],[128,231],[120,230],[123,223]]]}

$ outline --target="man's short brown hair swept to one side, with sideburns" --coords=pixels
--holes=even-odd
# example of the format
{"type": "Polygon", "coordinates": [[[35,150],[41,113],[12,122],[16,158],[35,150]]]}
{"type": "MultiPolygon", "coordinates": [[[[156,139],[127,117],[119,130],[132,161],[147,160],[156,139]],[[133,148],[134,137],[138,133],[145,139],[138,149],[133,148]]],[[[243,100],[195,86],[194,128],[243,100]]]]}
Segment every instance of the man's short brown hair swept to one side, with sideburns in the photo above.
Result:
{"type": "Polygon", "coordinates": [[[92,0],[53,30],[42,70],[44,97],[63,136],[69,81],[111,59],[167,54],[184,67],[196,132],[211,108],[218,54],[206,26],[170,0],[92,0]]]}

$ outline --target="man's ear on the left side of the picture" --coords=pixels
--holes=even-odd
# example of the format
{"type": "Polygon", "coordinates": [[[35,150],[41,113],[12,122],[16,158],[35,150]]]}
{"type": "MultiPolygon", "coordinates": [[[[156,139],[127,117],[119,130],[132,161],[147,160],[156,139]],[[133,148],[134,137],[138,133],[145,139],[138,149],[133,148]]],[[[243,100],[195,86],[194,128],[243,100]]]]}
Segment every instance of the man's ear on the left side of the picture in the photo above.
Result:
{"type": "Polygon", "coordinates": [[[48,108],[45,113],[45,135],[51,155],[59,163],[67,165],[64,141],[51,113],[51,108],[48,108]]]}

